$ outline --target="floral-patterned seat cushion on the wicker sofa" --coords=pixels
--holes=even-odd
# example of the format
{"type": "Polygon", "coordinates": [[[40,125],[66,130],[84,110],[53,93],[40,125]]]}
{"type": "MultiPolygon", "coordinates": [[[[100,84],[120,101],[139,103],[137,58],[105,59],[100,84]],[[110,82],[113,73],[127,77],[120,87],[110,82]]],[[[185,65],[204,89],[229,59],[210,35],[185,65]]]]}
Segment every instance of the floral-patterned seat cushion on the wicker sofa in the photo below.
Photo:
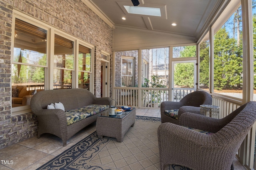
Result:
{"type": "Polygon", "coordinates": [[[96,115],[102,111],[107,110],[108,107],[108,105],[88,105],[85,107],[80,107],[78,109],[66,111],[65,113],[67,116],[67,125],[71,125],[73,123],[86,119],[87,117],[96,115]]]}

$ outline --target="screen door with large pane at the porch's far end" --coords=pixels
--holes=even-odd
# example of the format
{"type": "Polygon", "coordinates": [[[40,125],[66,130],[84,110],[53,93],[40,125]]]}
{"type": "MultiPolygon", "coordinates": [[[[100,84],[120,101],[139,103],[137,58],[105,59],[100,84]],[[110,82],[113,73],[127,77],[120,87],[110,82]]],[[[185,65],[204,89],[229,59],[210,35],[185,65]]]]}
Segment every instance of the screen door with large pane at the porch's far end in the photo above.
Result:
{"type": "Polygon", "coordinates": [[[196,91],[196,60],[172,61],[172,101],[196,91]]]}

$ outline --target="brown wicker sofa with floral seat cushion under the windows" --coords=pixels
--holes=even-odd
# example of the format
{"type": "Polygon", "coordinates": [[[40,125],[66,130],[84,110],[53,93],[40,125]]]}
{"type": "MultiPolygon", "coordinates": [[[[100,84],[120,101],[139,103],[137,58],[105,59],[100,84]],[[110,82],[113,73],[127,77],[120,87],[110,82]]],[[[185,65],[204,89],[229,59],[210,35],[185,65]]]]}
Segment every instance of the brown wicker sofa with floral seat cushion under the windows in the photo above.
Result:
{"type": "Polygon", "coordinates": [[[31,99],[31,110],[38,120],[40,134],[50,133],[60,137],[63,146],[67,140],[97,120],[108,110],[109,97],[97,98],[86,89],[56,89],[40,91],[31,99]],[[62,109],[47,109],[51,103],[62,103],[62,109]]]}

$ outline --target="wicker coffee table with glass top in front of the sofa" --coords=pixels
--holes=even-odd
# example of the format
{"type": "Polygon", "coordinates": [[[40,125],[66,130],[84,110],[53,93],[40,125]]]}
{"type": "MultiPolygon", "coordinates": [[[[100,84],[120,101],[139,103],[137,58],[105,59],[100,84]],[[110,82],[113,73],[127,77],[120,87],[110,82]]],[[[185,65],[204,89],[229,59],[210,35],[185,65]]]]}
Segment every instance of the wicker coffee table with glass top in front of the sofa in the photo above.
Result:
{"type": "Polygon", "coordinates": [[[98,137],[108,136],[116,138],[118,142],[122,142],[124,134],[131,126],[134,126],[135,118],[135,108],[123,111],[122,114],[117,114],[116,116],[109,115],[108,112],[98,115],[96,122],[98,137]]]}

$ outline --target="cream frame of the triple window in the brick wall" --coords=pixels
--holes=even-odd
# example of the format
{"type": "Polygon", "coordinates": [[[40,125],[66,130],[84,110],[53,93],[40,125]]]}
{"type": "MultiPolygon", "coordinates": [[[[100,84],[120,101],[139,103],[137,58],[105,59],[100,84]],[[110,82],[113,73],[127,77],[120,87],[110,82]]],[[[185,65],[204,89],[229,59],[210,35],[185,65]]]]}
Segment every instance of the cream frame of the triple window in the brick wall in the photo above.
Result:
{"type": "MultiPolygon", "coordinates": [[[[12,32],[15,30],[15,19],[18,18],[22,21],[28,22],[29,24],[38,26],[40,28],[43,28],[44,30],[47,30],[47,43],[46,43],[46,55],[47,55],[47,61],[46,66],[42,66],[45,68],[45,81],[44,81],[44,90],[51,90],[53,89],[53,70],[54,70],[54,34],[58,34],[60,36],[63,36],[64,38],[67,38],[68,40],[72,40],[74,42],[74,69],[65,69],[65,70],[71,70],[72,71],[72,88],[78,88],[78,54],[79,54],[79,45],[84,45],[85,47],[90,48],[91,50],[91,71],[90,74],[94,75],[94,45],[85,42],[84,40],[81,40],[80,38],[77,38],[75,36],[72,36],[66,32],[63,32],[62,30],[59,30],[55,27],[52,27],[40,20],[37,20],[36,18],[32,18],[16,9],[13,10],[12,15],[12,32]]],[[[14,34],[11,36],[11,41],[14,42],[14,34]]],[[[14,43],[11,44],[11,51],[14,50],[14,43]]],[[[17,62],[13,62],[14,56],[13,52],[11,53],[11,65],[17,64],[17,62]]],[[[20,64],[20,63],[19,63],[20,64]]],[[[30,65],[28,63],[22,63],[24,65],[30,65]]],[[[34,65],[32,65],[34,66],[34,65]]],[[[41,67],[41,65],[40,65],[41,67]]],[[[58,68],[60,69],[60,68],[58,68]]],[[[90,92],[94,93],[94,76],[90,77],[90,92]]],[[[12,96],[12,94],[11,94],[12,96]]],[[[12,103],[12,97],[10,97],[10,103],[12,103]]],[[[10,104],[11,105],[11,104],[10,104]]],[[[12,106],[12,105],[11,105],[12,106]]],[[[14,107],[11,108],[11,117],[22,115],[26,113],[31,113],[30,105],[27,106],[20,106],[20,107],[14,107]]]]}

